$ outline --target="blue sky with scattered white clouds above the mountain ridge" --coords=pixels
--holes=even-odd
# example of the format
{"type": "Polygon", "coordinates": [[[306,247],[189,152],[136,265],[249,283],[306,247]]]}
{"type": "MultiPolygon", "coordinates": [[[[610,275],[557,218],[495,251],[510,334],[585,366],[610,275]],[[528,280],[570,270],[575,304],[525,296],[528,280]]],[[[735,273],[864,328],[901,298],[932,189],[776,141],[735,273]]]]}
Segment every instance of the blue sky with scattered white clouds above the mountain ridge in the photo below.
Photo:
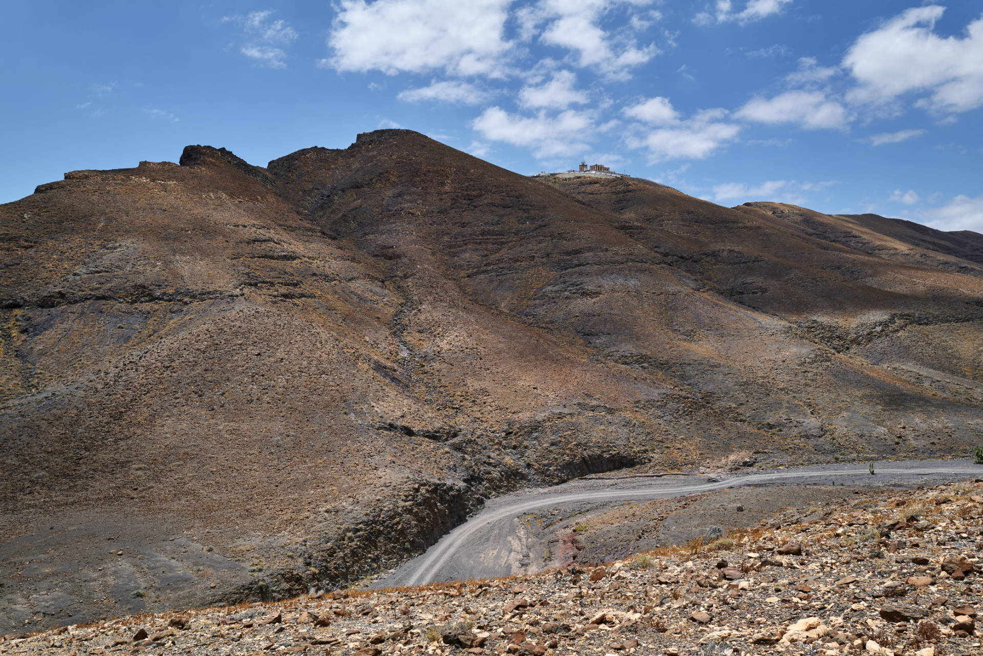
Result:
{"type": "Polygon", "coordinates": [[[0,202],[188,144],[265,165],[406,127],[732,206],[983,232],[983,4],[8,0],[0,202]]]}

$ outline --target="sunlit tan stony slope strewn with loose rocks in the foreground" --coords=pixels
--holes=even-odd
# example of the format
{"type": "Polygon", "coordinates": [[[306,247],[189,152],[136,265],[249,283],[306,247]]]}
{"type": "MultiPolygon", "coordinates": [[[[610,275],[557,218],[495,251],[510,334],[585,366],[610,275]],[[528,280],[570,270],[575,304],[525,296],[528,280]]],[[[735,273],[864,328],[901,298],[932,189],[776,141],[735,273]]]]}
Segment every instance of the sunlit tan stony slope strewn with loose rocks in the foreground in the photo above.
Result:
{"type": "Polygon", "coordinates": [[[607,567],[132,616],[0,654],[983,653],[983,479],[891,494],[607,567]]]}

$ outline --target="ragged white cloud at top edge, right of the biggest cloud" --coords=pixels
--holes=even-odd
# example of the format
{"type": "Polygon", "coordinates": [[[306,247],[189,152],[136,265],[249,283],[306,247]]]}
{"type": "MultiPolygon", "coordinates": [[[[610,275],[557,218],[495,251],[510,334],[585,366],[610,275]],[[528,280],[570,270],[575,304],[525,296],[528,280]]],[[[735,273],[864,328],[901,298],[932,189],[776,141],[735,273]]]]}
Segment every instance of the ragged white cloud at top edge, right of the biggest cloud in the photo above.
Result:
{"type": "MultiPolygon", "coordinates": [[[[627,69],[644,64],[660,53],[655,43],[639,45],[625,34],[612,34],[600,23],[618,5],[645,6],[653,0],[540,0],[516,12],[520,38],[530,40],[540,26],[540,40],[577,54],[577,66],[593,68],[614,79],[629,77],[627,69]]],[[[649,15],[652,16],[651,14],[649,15]]],[[[639,19],[642,20],[642,19],[639,19]]],[[[631,19],[629,19],[629,25],[631,19]]],[[[636,29],[641,23],[634,24],[636,29]]]]}

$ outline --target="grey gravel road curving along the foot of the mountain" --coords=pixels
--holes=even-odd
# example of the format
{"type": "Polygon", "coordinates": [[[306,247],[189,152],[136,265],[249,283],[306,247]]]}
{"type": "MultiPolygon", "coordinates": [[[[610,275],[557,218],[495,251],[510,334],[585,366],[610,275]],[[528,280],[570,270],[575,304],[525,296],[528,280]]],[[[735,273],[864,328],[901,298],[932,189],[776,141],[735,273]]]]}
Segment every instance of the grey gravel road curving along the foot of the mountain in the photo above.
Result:
{"type": "Polygon", "coordinates": [[[738,486],[810,485],[831,480],[849,486],[936,484],[983,476],[969,460],[866,462],[812,465],[754,474],[580,479],[490,501],[479,513],[444,535],[421,556],[397,568],[374,587],[421,585],[433,581],[505,576],[521,570],[522,548],[515,519],[551,507],[597,506],[610,502],[685,497],[738,486]]]}

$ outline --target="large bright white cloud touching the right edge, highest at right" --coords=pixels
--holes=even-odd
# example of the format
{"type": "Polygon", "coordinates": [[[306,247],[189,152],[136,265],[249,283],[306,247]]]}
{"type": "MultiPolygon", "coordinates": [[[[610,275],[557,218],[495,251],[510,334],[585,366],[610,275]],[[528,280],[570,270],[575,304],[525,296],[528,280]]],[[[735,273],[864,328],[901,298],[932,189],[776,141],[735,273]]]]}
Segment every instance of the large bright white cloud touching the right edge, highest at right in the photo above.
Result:
{"type": "Polygon", "coordinates": [[[886,103],[909,92],[928,92],[916,105],[962,112],[983,105],[983,18],[963,37],[942,37],[935,23],[945,7],[908,9],[861,35],[843,57],[857,86],[847,99],[886,103]]]}

